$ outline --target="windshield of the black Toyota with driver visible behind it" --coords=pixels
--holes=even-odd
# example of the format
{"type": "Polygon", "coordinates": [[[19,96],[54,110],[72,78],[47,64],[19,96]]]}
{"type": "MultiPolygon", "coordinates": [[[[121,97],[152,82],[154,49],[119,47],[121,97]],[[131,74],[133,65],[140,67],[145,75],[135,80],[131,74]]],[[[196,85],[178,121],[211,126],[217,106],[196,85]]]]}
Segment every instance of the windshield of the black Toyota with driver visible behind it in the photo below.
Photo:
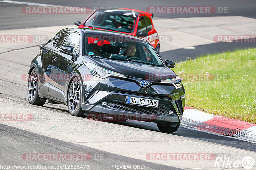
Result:
{"type": "Polygon", "coordinates": [[[154,48],[144,39],[106,33],[85,34],[84,38],[87,55],[164,67],[154,48]]]}

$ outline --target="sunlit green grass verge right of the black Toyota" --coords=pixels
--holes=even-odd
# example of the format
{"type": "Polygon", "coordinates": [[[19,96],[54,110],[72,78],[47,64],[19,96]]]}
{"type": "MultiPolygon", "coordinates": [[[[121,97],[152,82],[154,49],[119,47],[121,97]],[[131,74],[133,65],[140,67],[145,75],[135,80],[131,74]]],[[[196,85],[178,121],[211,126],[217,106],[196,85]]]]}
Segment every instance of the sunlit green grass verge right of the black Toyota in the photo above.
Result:
{"type": "Polygon", "coordinates": [[[187,106],[256,123],[255,48],[198,57],[177,64],[173,71],[183,78],[187,106]],[[193,80],[188,74],[204,76],[193,80]],[[203,80],[207,76],[209,80],[203,80]]]}

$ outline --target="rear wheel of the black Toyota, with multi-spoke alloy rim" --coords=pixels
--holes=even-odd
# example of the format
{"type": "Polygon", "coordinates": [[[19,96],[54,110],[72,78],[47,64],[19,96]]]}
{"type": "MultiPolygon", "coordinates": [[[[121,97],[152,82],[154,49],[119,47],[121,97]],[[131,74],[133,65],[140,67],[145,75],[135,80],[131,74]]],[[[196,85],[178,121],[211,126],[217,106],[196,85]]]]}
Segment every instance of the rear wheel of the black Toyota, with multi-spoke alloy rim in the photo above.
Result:
{"type": "Polygon", "coordinates": [[[43,106],[46,99],[40,99],[38,95],[39,82],[38,82],[38,71],[34,68],[28,77],[28,102],[37,106],[43,106]]]}

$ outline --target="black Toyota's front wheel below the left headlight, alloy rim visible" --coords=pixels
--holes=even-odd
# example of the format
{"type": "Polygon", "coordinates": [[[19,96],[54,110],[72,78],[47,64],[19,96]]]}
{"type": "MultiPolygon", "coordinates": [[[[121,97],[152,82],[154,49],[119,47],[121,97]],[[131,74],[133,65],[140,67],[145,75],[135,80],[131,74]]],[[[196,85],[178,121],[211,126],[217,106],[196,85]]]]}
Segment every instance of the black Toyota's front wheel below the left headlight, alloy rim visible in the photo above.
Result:
{"type": "Polygon", "coordinates": [[[72,81],[68,90],[68,110],[70,115],[85,117],[81,107],[82,90],[80,80],[76,77],[72,81]]]}

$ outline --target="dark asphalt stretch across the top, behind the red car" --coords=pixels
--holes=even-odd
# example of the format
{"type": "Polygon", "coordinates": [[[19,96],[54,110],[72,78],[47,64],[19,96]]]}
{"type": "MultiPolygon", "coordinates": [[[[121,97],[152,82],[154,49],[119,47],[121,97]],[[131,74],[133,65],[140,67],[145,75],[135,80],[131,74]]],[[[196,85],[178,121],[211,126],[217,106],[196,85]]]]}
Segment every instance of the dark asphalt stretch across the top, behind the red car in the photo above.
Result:
{"type": "MultiPolygon", "coordinates": [[[[33,2],[41,4],[52,4],[61,6],[72,6],[72,7],[90,7],[91,9],[99,7],[123,7],[133,8],[142,11],[146,11],[148,6],[213,6],[228,7],[228,13],[162,13],[154,14],[154,18],[182,18],[182,17],[212,17],[212,16],[244,16],[249,18],[256,18],[254,0],[213,0],[213,1],[202,1],[202,0],[18,0],[21,2],[33,2]]],[[[0,1],[1,2],[1,1],[0,1]]],[[[57,26],[57,25],[71,25],[75,20],[83,22],[89,14],[24,14],[22,13],[22,7],[24,4],[12,4],[12,3],[0,3],[0,30],[8,30],[15,28],[34,28],[34,27],[45,27],[45,26],[57,26]]]]}

